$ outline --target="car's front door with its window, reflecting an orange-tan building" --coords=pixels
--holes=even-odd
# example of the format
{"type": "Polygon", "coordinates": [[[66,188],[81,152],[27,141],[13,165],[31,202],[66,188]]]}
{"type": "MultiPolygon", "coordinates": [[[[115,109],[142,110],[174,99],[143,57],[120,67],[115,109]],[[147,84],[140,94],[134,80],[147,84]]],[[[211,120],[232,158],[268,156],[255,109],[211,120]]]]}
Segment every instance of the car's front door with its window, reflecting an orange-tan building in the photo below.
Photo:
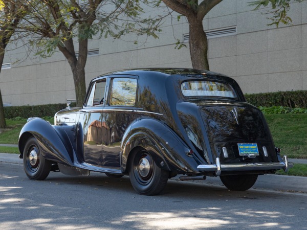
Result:
{"type": "MultiPolygon", "coordinates": [[[[83,135],[83,161],[87,164],[102,166],[103,107],[107,79],[93,82],[83,108],[80,110],[79,123],[83,135]]],[[[80,132],[79,132],[80,133],[80,132]]]]}

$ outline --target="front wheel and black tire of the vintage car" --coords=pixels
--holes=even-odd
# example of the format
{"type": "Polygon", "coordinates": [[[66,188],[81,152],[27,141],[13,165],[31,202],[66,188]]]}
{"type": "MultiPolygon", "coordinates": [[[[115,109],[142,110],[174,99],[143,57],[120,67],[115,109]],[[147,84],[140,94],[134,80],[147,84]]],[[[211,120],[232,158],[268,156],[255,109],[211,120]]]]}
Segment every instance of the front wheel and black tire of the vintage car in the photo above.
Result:
{"type": "Polygon", "coordinates": [[[51,162],[41,155],[35,137],[30,137],[27,140],[23,158],[25,172],[31,180],[46,179],[50,173],[51,162]]]}

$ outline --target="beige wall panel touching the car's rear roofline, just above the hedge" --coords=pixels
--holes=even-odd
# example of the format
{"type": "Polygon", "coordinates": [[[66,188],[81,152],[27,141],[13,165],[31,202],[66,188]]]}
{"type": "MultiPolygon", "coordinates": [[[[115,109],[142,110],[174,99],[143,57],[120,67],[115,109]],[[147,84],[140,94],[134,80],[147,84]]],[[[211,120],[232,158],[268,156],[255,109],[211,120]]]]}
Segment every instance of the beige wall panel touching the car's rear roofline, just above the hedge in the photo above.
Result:
{"type": "Polygon", "coordinates": [[[267,93],[269,91],[268,75],[250,75],[234,77],[244,94],[267,93]]]}

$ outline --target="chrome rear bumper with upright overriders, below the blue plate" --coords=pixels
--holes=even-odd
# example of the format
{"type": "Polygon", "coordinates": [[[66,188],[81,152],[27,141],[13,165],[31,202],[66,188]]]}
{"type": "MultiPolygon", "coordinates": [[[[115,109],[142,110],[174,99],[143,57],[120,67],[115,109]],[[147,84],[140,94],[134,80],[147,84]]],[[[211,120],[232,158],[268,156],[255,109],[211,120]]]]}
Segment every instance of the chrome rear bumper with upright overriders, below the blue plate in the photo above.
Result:
{"type": "Polygon", "coordinates": [[[292,163],[288,162],[288,157],[279,157],[279,162],[271,163],[247,163],[247,164],[221,164],[220,158],[215,158],[215,165],[199,165],[199,172],[215,172],[215,176],[220,176],[222,172],[236,171],[261,171],[261,170],[279,170],[283,169],[288,172],[289,168],[293,167],[292,163]]]}

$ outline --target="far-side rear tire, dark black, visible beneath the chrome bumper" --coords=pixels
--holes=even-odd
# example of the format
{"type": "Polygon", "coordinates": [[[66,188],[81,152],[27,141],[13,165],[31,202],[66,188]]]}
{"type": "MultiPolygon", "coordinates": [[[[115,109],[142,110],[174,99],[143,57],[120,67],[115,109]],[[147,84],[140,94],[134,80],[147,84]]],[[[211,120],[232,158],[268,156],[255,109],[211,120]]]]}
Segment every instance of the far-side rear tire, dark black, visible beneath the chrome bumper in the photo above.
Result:
{"type": "Polygon", "coordinates": [[[246,174],[246,175],[229,175],[220,176],[223,185],[232,191],[246,191],[254,185],[258,175],[246,174]]]}

